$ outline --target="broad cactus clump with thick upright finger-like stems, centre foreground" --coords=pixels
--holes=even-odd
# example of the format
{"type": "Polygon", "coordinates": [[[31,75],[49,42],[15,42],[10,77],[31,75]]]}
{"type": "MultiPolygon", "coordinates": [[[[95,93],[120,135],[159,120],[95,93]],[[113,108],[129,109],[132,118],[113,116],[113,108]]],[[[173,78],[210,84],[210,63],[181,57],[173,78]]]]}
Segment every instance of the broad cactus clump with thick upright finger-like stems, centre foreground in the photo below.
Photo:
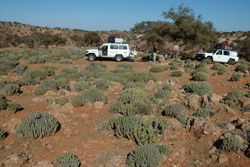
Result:
{"type": "Polygon", "coordinates": [[[151,144],[163,134],[169,125],[166,120],[144,120],[136,116],[115,115],[108,125],[114,130],[115,136],[134,140],[138,145],[151,144]]]}

